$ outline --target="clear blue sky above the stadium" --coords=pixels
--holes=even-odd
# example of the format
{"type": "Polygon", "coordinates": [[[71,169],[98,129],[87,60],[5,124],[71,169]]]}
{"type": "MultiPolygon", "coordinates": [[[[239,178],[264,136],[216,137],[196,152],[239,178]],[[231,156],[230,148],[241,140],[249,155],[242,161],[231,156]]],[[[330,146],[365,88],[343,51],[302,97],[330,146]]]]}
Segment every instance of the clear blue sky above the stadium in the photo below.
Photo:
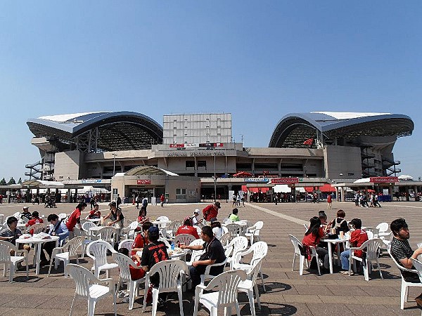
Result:
{"type": "Polygon", "coordinates": [[[267,147],[290,112],[407,114],[395,159],[418,178],[421,1],[0,1],[0,178],[39,160],[47,114],[231,112],[267,147]]]}

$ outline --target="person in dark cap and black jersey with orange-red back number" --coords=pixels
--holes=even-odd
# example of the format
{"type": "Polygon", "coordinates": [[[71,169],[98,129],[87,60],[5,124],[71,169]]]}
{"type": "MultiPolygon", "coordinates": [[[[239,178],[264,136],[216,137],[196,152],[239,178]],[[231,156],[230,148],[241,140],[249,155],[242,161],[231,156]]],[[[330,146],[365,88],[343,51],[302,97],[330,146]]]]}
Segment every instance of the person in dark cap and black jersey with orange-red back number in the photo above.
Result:
{"type": "MultiPolygon", "coordinates": [[[[157,226],[151,226],[148,229],[148,239],[149,244],[143,247],[142,256],[141,256],[141,267],[145,272],[148,272],[153,268],[153,265],[159,263],[160,261],[165,261],[169,259],[167,254],[167,246],[164,242],[159,242],[158,238],[160,237],[160,231],[157,226]]],[[[158,272],[150,277],[150,283],[153,287],[158,287],[160,284],[160,275],[158,272]]],[[[148,287],[150,284],[146,284],[148,287]]],[[[158,304],[163,305],[167,299],[167,293],[158,294],[158,304]]]]}

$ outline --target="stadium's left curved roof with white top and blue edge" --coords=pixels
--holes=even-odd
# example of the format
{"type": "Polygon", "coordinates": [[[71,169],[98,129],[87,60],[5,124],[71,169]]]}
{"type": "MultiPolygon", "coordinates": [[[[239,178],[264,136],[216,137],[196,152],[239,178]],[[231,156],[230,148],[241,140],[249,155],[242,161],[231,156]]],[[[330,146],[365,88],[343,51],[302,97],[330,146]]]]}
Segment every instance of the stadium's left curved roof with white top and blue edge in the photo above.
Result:
{"type": "Polygon", "coordinates": [[[143,150],[162,143],[162,126],[136,112],[51,115],[29,119],[27,125],[35,137],[44,137],[61,150],[143,150]]]}

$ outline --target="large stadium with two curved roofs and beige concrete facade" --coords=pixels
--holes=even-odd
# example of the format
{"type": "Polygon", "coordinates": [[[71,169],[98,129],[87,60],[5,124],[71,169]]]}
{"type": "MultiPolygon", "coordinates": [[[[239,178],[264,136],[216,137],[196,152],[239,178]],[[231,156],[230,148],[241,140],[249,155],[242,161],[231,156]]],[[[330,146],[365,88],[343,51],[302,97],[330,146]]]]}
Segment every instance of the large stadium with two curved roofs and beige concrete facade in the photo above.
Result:
{"type": "Polygon", "coordinates": [[[114,194],[165,194],[170,202],[226,197],[271,178],[305,186],[395,176],[392,149],[414,129],[402,114],[292,113],[276,124],[268,147],[245,147],[232,142],[229,113],[165,115],[163,127],[136,112],[52,115],[27,125],[41,180],[103,183],[114,194]],[[233,177],[241,171],[250,177],[233,177]]]}

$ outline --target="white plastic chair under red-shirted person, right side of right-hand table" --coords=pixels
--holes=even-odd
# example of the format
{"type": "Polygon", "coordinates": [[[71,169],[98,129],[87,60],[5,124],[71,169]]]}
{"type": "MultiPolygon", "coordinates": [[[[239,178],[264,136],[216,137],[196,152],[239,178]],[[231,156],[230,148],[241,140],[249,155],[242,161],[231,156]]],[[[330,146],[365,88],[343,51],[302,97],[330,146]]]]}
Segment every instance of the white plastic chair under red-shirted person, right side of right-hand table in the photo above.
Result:
{"type": "MultiPolygon", "coordinates": [[[[371,270],[373,268],[372,263],[373,263],[373,261],[376,261],[376,264],[378,266],[378,271],[380,272],[381,279],[383,279],[383,272],[381,272],[380,263],[378,261],[378,254],[379,254],[379,249],[381,249],[381,246],[383,246],[383,241],[379,238],[374,238],[374,239],[366,240],[366,242],[364,242],[360,247],[350,248],[349,274],[352,271],[352,263],[354,261],[360,261],[360,262],[362,262],[362,266],[363,266],[363,269],[364,269],[365,280],[369,281],[369,273],[371,273],[371,270]],[[364,256],[364,258],[354,256],[354,251],[364,250],[364,249],[366,249],[366,256],[364,256]]],[[[353,265],[353,270],[354,270],[354,272],[356,272],[356,265],[355,264],[353,265]]]]}

